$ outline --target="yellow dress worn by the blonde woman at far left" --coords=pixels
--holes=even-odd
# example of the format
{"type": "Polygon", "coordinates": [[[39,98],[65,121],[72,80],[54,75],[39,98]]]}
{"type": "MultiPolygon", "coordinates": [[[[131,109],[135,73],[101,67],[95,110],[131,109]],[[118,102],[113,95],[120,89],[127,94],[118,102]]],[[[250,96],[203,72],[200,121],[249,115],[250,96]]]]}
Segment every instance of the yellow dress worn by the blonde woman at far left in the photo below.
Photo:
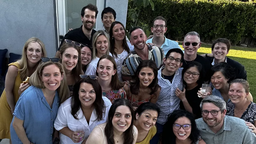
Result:
{"type": "MultiPolygon", "coordinates": [[[[18,69],[21,69],[18,62],[10,63],[8,66],[14,65],[17,66],[18,69]]],[[[13,96],[14,96],[14,102],[17,103],[19,99],[19,86],[21,85],[23,81],[21,80],[21,74],[20,71],[18,71],[18,75],[15,78],[15,83],[13,87],[13,96]]],[[[13,119],[13,115],[11,113],[11,108],[7,102],[6,98],[6,92],[5,89],[3,90],[3,93],[0,98],[0,139],[8,138],[10,139],[10,125],[11,121],[13,119]]]]}

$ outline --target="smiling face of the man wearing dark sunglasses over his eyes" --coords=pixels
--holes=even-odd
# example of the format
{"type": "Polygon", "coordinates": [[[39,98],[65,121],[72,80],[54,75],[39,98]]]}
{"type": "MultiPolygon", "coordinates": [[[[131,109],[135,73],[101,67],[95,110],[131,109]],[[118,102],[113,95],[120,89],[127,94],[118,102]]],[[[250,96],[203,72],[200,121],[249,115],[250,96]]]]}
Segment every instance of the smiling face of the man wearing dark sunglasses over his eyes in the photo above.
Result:
{"type": "Polygon", "coordinates": [[[187,35],[187,37],[184,38],[184,42],[182,42],[182,46],[184,48],[184,54],[186,55],[196,55],[197,50],[201,46],[200,39],[197,35],[187,35]],[[185,46],[185,42],[189,42],[189,46],[185,46]],[[192,46],[192,43],[196,42],[198,43],[197,46],[192,46]]]}

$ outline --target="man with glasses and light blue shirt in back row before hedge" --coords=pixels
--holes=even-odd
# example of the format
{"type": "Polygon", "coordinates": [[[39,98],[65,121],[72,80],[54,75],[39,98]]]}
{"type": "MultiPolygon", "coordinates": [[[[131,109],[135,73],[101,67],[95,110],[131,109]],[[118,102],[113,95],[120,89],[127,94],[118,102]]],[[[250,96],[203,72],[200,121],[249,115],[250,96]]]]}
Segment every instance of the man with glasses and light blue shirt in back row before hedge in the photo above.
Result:
{"type": "Polygon", "coordinates": [[[166,19],[159,16],[156,17],[153,21],[153,27],[151,27],[151,32],[153,33],[153,38],[147,40],[146,43],[154,43],[154,45],[161,47],[165,52],[165,55],[168,50],[173,48],[179,48],[178,42],[171,41],[165,37],[167,27],[166,27],[166,19]]]}

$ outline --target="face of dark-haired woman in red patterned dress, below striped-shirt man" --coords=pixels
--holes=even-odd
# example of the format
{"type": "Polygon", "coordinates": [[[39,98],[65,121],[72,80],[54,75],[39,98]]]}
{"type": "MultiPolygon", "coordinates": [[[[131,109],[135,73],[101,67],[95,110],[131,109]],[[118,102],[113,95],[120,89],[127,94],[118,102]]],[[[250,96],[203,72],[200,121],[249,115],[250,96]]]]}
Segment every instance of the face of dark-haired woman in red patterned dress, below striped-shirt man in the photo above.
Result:
{"type": "Polygon", "coordinates": [[[139,72],[139,84],[142,86],[149,86],[155,78],[154,72],[150,67],[143,67],[139,72]]]}

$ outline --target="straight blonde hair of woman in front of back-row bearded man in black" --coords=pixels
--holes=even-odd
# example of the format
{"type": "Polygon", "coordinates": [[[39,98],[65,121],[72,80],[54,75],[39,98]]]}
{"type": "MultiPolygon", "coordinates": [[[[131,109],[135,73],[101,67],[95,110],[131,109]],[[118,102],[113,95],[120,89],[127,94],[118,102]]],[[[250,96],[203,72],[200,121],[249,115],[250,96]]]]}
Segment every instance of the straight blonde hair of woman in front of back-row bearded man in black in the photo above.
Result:
{"type": "Polygon", "coordinates": [[[99,31],[96,31],[96,33],[93,35],[93,54],[91,59],[94,59],[97,57],[96,40],[101,35],[105,35],[105,37],[107,38],[108,47],[107,47],[106,55],[109,55],[109,48],[110,48],[109,36],[105,31],[99,30],[99,31]]]}

